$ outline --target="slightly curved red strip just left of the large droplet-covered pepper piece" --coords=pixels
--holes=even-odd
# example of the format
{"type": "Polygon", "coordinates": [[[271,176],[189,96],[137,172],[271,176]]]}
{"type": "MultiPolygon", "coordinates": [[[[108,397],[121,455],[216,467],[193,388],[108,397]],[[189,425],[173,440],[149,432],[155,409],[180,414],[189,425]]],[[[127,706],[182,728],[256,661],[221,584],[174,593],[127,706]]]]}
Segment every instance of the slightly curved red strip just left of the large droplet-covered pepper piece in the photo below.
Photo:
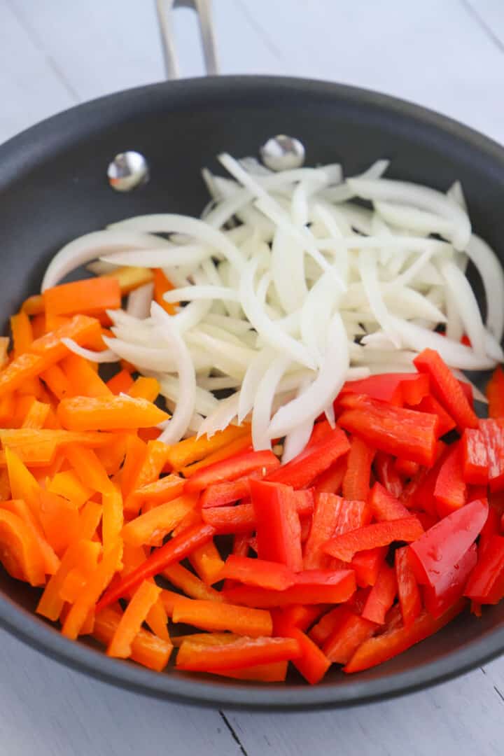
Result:
{"type": "Polygon", "coordinates": [[[324,551],[344,562],[351,562],[358,551],[388,546],[393,541],[416,541],[423,534],[418,517],[403,517],[388,522],[376,522],[363,528],[332,538],[323,547],[324,551]]]}

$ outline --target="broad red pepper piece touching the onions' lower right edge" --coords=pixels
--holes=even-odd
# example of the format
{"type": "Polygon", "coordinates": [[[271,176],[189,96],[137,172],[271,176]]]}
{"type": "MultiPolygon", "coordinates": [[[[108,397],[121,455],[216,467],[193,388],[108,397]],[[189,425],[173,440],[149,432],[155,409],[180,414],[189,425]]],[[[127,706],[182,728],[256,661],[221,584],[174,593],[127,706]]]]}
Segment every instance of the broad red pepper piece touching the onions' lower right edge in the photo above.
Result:
{"type": "Polygon", "coordinates": [[[338,423],[345,430],[395,457],[427,466],[433,462],[439,423],[436,415],[393,407],[358,394],[345,395],[341,404],[345,411],[338,423]]]}

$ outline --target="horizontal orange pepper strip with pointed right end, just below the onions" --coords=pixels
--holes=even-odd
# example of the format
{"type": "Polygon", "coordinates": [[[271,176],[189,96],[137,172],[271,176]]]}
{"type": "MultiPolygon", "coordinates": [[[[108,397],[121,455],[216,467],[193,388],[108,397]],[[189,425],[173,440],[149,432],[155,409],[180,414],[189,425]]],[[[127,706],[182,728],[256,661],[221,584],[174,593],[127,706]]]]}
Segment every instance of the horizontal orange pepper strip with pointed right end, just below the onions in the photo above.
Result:
{"type": "Polygon", "coordinates": [[[156,404],[126,396],[63,399],[57,417],[63,427],[81,431],[150,428],[169,419],[156,404]]]}

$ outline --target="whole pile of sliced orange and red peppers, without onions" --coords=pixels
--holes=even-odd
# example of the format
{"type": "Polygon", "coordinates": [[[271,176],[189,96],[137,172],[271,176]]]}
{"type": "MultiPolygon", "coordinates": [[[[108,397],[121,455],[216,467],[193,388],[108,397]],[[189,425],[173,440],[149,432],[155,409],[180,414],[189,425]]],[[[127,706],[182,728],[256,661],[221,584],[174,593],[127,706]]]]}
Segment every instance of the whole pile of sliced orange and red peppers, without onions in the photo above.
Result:
{"type": "Polygon", "coordinates": [[[107,355],[128,285],[51,287],[0,342],[0,558],[64,636],[157,671],[175,647],[181,671],[279,682],[292,663],[317,683],[502,599],[500,368],[485,420],[425,349],[345,381],[287,462],[283,432],[255,449],[246,422],[167,444],[159,381],[122,362],[105,382],[82,356],[107,355]]]}

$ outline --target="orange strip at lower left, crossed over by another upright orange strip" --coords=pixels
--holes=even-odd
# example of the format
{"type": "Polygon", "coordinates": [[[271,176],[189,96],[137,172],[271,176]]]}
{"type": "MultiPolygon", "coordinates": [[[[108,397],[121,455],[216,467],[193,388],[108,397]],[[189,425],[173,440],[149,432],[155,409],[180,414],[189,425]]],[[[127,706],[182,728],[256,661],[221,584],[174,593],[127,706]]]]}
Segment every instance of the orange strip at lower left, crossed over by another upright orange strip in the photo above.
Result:
{"type": "MultiPolygon", "coordinates": [[[[122,614],[116,609],[104,609],[94,618],[93,637],[104,643],[110,643],[121,621],[122,614]]],[[[161,672],[168,664],[172,653],[172,643],[141,629],[131,641],[131,658],[156,672],[161,672]]]]}

